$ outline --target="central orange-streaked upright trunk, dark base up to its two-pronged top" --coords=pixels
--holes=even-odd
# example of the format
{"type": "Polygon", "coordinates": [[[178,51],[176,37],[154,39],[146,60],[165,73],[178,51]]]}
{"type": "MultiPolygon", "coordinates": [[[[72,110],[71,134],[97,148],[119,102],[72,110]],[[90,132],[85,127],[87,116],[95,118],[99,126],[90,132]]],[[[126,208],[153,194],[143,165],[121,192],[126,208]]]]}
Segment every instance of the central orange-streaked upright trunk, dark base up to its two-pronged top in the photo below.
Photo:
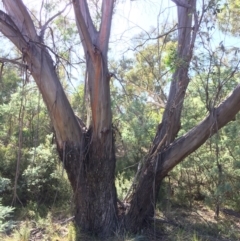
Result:
{"type": "Polygon", "coordinates": [[[100,30],[92,23],[87,2],[74,1],[76,22],[86,56],[86,95],[90,98],[90,126],[75,175],[66,165],[74,190],[76,223],[85,231],[109,235],[117,227],[115,149],[112,133],[110,75],[107,51],[113,0],[102,4],[100,30]]]}

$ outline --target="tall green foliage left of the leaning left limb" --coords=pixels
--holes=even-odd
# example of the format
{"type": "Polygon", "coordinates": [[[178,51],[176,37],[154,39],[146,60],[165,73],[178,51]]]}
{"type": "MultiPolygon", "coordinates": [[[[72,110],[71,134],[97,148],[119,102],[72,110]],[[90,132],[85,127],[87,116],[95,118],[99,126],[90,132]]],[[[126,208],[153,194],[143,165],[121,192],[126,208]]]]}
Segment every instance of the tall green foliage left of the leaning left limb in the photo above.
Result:
{"type": "MultiPolygon", "coordinates": [[[[18,161],[17,195],[22,204],[32,206],[31,209],[36,212],[40,210],[38,205],[49,207],[54,202],[60,203],[60,199],[62,202],[65,198],[69,200],[69,196],[66,197],[71,195],[69,183],[63,178],[65,174],[52,145],[53,137],[49,135],[51,126],[48,113],[36,92],[36,85],[19,84],[19,87],[10,90],[8,96],[8,101],[0,104],[0,175],[9,180],[2,183],[7,186],[3,191],[3,204],[12,201],[18,161]],[[19,116],[23,116],[22,127],[19,116]]],[[[41,209],[44,210],[44,207],[41,209]]]]}

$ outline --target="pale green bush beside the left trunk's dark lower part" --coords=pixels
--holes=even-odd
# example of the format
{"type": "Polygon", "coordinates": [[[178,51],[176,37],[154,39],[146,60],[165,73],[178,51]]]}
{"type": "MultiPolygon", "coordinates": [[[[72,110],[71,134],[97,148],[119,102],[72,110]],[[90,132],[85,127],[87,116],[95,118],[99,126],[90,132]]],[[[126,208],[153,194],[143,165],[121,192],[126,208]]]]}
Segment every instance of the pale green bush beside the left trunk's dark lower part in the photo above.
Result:
{"type": "MultiPolygon", "coordinates": [[[[66,202],[72,194],[51,141],[52,135],[48,135],[38,147],[24,148],[21,152],[17,195],[24,206],[35,203],[35,211],[42,205],[50,207],[66,202]]],[[[6,206],[13,198],[17,159],[16,149],[13,150],[11,145],[0,145],[0,190],[2,204],[6,206]]]]}

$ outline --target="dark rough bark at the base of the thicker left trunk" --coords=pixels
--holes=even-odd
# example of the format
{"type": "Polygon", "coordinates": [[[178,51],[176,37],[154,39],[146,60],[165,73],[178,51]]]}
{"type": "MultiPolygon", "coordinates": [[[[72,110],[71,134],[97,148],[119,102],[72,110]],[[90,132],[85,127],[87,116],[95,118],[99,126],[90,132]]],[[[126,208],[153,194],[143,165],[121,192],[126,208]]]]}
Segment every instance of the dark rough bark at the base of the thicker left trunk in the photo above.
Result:
{"type": "Polygon", "coordinates": [[[76,225],[106,237],[118,228],[115,156],[112,151],[107,157],[104,142],[94,142],[89,133],[84,139],[81,147],[66,144],[58,152],[74,192],[76,225]]]}

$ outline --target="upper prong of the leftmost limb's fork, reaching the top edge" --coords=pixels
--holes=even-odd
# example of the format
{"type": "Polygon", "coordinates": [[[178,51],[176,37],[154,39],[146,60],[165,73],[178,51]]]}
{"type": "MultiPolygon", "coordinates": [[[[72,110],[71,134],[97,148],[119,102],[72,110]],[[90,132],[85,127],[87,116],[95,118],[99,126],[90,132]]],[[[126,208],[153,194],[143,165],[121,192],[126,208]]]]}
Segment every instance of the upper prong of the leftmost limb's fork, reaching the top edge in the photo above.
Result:
{"type": "Polygon", "coordinates": [[[36,40],[36,29],[22,0],[3,0],[3,4],[22,35],[25,38],[28,36],[28,38],[36,40]]]}

